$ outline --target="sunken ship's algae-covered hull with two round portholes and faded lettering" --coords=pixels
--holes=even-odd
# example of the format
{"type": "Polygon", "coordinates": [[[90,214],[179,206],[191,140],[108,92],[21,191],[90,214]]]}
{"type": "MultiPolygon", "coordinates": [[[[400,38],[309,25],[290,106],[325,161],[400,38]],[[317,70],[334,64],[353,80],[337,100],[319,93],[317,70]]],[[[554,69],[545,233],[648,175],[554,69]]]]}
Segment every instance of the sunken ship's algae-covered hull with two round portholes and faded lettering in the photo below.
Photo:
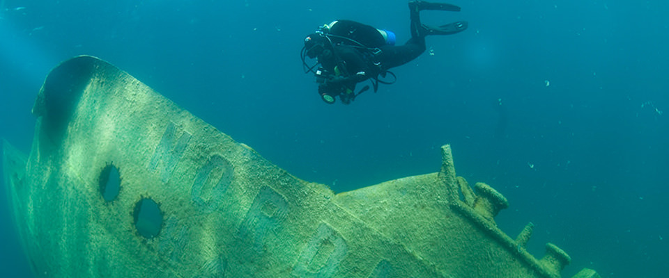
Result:
{"type": "MultiPolygon", "coordinates": [[[[24,156],[3,144],[38,277],[560,277],[494,222],[506,199],[438,173],[334,195],[91,56],[47,76],[24,156]]],[[[599,277],[582,270],[577,277],[599,277]]]]}

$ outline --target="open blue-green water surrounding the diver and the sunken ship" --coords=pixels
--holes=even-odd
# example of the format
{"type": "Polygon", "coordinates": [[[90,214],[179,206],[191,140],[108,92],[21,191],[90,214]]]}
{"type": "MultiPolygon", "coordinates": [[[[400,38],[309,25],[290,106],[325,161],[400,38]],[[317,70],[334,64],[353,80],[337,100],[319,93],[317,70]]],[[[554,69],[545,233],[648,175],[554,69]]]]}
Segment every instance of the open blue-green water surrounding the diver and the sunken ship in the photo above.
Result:
{"type": "MultiPolygon", "coordinates": [[[[307,33],[334,19],[409,38],[406,1],[0,0],[0,136],[29,152],[40,85],[61,60],[98,56],[295,176],[337,192],[456,170],[511,202],[498,224],[535,223],[574,259],[564,272],[669,272],[667,1],[453,1],[457,35],[427,38],[398,81],[350,106],[302,73],[307,33]]],[[[0,190],[0,272],[31,277],[0,190]]]]}

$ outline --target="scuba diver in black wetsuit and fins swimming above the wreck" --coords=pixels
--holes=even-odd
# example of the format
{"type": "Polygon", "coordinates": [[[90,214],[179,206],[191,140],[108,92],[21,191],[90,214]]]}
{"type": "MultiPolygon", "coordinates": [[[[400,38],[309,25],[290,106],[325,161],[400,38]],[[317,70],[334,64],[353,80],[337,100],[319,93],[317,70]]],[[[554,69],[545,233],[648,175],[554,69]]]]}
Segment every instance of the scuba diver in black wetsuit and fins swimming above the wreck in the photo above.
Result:
{"type": "Polygon", "coordinates": [[[451,35],[464,31],[467,22],[453,22],[441,26],[429,26],[420,22],[421,10],[447,10],[459,12],[460,7],[448,3],[410,1],[411,38],[405,44],[396,46],[395,34],[372,26],[337,20],[321,26],[316,33],[307,35],[302,47],[302,65],[305,73],[312,72],[318,83],[318,95],[328,104],[334,104],[335,97],[350,104],[357,95],[369,90],[369,85],[355,92],[355,85],[371,80],[374,92],[378,83],[392,84],[397,77],[388,69],[408,63],[425,51],[427,35],[451,35]],[[309,67],[306,57],[316,58],[309,67]],[[316,66],[320,65],[316,70],[316,66]],[[379,79],[388,74],[392,81],[379,79]]]}

